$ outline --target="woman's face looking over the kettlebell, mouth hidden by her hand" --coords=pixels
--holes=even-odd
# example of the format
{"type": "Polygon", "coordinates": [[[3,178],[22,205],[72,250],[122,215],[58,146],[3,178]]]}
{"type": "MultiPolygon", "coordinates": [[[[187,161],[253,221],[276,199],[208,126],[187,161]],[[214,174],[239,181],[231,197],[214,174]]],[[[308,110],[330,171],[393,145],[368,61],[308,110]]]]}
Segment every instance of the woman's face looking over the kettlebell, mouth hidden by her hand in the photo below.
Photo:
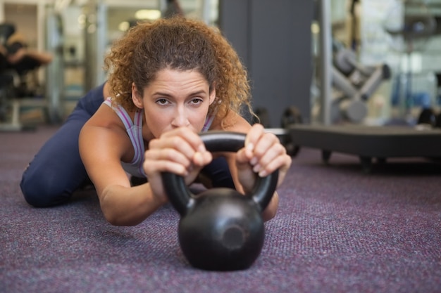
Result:
{"type": "Polygon", "coordinates": [[[208,82],[196,70],[161,70],[143,93],[132,86],[133,102],[144,108],[154,138],[181,126],[201,131],[215,96],[216,91],[209,92],[208,82]]]}

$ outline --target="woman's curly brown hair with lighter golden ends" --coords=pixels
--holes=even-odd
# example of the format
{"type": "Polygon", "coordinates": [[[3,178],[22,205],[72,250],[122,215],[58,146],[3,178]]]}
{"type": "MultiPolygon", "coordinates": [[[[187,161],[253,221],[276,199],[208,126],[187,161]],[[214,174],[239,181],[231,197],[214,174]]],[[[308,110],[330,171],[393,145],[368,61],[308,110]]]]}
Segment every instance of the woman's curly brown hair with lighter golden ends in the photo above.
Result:
{"type": "Polygon", "coordinates": [[[253,113],[247,71],[239,56],[219,30],[199,20],[176,16],[139,22],[113,44],[104,64],[113,100],[128,110],[135,108],[132,83],[142,92],[157,72],[170,68],[197,70],[210,91],[216,88],[209,112],[216,111],[221,120],[230,110],[241,115],[244,106],[253,113]]]}

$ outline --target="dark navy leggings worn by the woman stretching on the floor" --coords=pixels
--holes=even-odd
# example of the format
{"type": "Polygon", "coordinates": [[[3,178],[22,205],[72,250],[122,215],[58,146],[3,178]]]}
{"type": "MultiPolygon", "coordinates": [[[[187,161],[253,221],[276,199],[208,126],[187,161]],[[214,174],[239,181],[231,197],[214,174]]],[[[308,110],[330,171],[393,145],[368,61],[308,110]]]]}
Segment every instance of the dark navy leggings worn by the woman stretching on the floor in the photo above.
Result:
{"type": "MultiPolygon", "coordinates": [[[[66,122],[37,152],[23,173],[20,188],[34,207],[51,207],[70,199],[73,192],[89,181],[78,150],[82,126],[104,101],[103,85],[81,98],[66,122]]],[[[234,188],[224,158],[214,159],[204,168],[214,186],[234,188]]]]}

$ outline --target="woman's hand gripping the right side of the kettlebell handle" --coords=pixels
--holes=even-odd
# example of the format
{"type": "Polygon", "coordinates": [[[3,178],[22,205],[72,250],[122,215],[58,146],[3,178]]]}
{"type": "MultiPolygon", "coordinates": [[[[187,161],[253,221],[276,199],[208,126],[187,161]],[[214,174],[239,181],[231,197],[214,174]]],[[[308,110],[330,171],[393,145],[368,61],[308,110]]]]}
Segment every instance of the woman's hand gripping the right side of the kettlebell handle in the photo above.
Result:
{"type": "Polygon", "coordinates": [[[268,176],[276,169],[279,169],[279,186],[291,162],[291,157],[287,155],[278,137],[266,133],[261,124],[251,126],[244,148],[236,154],[237,175],[245,192],[254,187],[256,176],[268,176]]]}

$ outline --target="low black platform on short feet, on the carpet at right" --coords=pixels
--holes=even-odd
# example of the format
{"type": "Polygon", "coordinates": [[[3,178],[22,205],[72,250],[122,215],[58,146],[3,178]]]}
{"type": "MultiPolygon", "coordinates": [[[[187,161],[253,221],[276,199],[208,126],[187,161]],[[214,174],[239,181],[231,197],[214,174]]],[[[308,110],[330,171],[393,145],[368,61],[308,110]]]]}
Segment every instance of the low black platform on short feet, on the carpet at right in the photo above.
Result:
{"type": "Polygon", "coordinates": [[[388,157],[441,157],[441,129],[407,126],[291,125],[292,143],[322,150],[328,163],[332,152],[357,155],[363,170],[372,170],[372,159],[388,157]]]}

